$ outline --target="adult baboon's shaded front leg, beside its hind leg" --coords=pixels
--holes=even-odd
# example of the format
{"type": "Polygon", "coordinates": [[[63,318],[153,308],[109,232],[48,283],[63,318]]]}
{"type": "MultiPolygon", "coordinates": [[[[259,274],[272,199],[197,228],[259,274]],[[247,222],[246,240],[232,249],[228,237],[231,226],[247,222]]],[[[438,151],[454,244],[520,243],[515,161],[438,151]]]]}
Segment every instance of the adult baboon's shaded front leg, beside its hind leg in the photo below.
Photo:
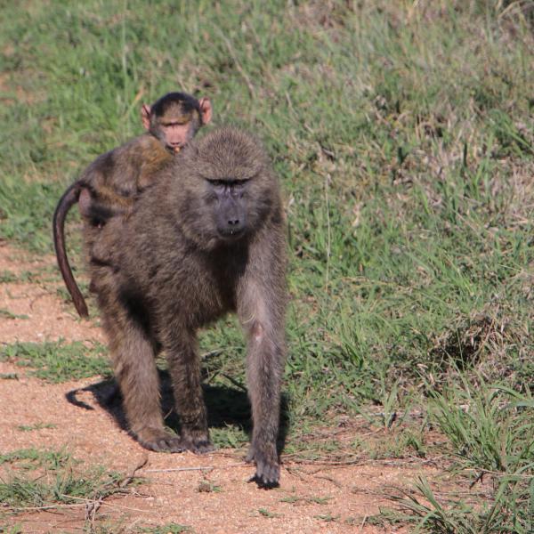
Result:
{"type": "Polygon", "coordinates": [[[195,336],[183,330],[173,332],[166,347],[173,378],[176,411],[182,422],[182,447],[196,453],[214,447],[207,430],[206,405],[200,386],[200,362],[195,336]]]}

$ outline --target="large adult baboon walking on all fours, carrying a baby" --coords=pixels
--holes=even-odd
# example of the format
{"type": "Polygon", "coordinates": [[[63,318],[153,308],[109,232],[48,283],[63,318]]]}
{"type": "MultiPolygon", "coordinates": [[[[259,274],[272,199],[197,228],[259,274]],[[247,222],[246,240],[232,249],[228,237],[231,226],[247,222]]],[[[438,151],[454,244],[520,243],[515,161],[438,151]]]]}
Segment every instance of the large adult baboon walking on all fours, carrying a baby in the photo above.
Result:
{"type": "Polygon", "coordinates": [[[256,481],[276,484],[286,244],[279,186],[258,142],[233,128],[191,142],[109,239],[117,269],[92,263],[90,271],[132,433],[147,449],[212,449],[196,332],[237,312],[254,421],[247,458],[256,481]],[[180,437],[164,428],[157,347],[168,359],[180,437]]]}

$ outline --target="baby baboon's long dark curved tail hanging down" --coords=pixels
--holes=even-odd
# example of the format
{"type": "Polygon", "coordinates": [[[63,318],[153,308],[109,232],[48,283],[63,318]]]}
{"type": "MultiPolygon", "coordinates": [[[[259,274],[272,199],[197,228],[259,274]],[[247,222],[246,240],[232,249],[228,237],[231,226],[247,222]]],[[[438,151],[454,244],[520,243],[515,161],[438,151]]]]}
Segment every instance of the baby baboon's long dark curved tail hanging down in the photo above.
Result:
{"type": "Polygon", "coordinates": [[[67,289],[69,289],[70,296],[72,297],[79,316],[89,317],[84,295],[82,295],[79,287],[77,287],[76,280],[70,269],[67,251],[65,250],[65,217],[69,213],[69,209],[77,203],[79,194],[79,184],[74,182],[60,198],[58,206],[53,214],[53,246],[55,247],[56,258],[58,260],[58,265],[60,266],[61,275],[63,280],[65,280],[67,289]]]}

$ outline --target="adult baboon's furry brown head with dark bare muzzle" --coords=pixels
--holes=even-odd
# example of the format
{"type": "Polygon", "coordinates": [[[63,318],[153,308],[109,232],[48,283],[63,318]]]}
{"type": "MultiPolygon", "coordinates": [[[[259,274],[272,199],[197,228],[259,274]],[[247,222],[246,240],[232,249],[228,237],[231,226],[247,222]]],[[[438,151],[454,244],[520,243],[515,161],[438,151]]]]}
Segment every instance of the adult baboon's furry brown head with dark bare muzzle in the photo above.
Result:
{"type": "Polygon", "coordinates": [[[259,142],[221,128],[191,142],[175,162],[172,199],[182,230],[199,247],[238,242],[279,211],[278,184],[259,142]],[[176,206],[176,204],[174,204],[176,206]]]}

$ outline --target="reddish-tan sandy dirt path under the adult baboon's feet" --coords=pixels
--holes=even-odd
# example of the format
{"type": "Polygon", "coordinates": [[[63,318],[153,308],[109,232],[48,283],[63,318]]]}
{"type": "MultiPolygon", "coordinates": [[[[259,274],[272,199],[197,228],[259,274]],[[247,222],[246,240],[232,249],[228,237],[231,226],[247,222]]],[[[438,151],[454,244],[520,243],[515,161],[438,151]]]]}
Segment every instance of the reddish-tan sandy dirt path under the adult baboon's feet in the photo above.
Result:
{"type": "MultiPolygon", "coordinates": [[[[0,274],[10,271],[20,275],[28,270],[53,272],[53,258],[33,261],[12,247],[0,246],[0,274]]],[[[1,283],[0,309],[28,318],[1,316],[0,341],[62,337],[103,342],[98,327],[77,320],[72,306],[61,302],[54,289],[59,286],[20,280],[1,283]]],[[[376,514],[380,506],[391,506],[385,496],[392,485],[406,486],[423,471],[427,476],[433,474],[428,468],[408,463],[401,467],[385,462],[332,467],[284,462],[282,457],[279,489],[260,490],[249,482],[254,467],[243,462],[241,451],[224,449],[203,457],[147,452],[119,428],[92,392],[80,392],[78,400],[93,409],[81,409],[67,401],[68,392],[96,384],[98,377],[45,384],[8,362],[0,362],[0,373],[19,376],[18,380],[0,380],[0,453],[32,447],[66,449],[85,467],[105,465],[125,473],[148,457],[147,465],[137,473],[148,481],[125,497],[106,499],[96,514],[97,520],[116,525],[109,531],[134,532],[175,522],[198,533],[384,532],[368,524],[366,518],[376,514]],[[19,428],[37,424],[49,427],[32,432],[19,428]],[[204,491],[206,487],[216,490],[204,491]]],[[[0,531],[2,525],[21,522],[24,532],[80,532],[85,524],[84,510],[0,514],[0,531]]],[[[387,531],[406,530],[390,526],[387,531]]]]}

